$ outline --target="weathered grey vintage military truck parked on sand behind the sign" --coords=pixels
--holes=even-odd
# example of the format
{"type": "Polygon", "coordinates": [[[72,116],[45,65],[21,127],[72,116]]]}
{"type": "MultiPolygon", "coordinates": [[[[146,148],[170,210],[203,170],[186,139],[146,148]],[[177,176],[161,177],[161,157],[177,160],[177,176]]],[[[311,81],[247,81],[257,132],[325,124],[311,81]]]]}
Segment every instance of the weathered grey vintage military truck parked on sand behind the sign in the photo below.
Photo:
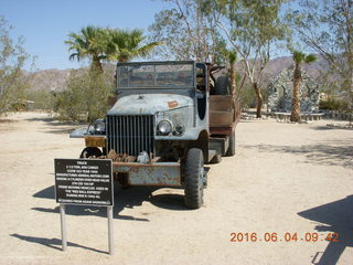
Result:
{"type": "Polygon", "coordinates": [[[117,97],[105,119],[71,137],[82,158],[113,159],[124,186],[181,187],[185,205],[203,204],[204,162],[235,155],[239,110],[220,66],[207,63],[118,63],[117,97]]]}

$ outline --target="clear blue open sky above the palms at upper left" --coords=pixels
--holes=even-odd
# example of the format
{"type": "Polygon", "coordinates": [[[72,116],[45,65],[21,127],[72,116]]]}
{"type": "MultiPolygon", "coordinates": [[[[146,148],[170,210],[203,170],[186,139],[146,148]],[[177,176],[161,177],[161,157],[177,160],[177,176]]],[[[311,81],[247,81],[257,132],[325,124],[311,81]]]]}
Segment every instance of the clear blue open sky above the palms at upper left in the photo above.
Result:
{"type": "Polygon", "coordinates": [[[13,26],[12,39],[24,36],[25,51],[36,56],[36,70],[63,70],[83,65],[68,60],[64,41],[71,32],[96,25],[147,33],[165,4],[160,0],[0,0],[0,15],[13,26]]]}

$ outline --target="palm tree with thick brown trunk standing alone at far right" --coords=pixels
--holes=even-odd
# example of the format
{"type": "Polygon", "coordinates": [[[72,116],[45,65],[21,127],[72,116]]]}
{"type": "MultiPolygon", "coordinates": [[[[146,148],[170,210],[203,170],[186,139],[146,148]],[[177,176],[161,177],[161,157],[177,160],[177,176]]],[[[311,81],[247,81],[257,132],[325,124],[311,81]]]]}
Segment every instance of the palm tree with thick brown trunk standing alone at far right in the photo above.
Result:
{"type": "Polygon", "coordinates": [[[291,115],[290,121],[300,121],[300,86],[302,82],[301,76],[301,65],[303,63],[309,64],[317,60],[317,56],[313,54],[306,55],[302,52],[293,51],[293,96],[291,100],[291,115]]]}

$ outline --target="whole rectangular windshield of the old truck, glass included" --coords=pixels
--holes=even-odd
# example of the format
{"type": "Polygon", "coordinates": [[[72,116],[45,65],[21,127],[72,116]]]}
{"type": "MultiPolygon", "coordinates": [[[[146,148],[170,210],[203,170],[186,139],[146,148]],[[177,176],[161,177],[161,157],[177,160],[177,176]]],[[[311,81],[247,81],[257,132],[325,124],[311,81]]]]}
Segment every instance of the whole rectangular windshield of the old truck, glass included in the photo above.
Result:
{"type": "Polygon", "coordinates": [[[128,64],[117,67],[118,88],[193,86],[193,64],[128,64]]]}

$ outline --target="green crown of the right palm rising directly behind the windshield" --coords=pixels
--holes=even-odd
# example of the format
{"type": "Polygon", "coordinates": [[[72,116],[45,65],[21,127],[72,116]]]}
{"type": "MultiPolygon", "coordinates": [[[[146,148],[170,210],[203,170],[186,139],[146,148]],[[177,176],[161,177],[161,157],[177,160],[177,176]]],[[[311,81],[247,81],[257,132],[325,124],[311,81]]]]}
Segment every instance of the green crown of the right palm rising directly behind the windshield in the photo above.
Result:
{"type": "Polygon", "coordinates": [[[118,62],[128,62],[133,57],[148,55],[160,42],[151,42],[141,45],[146,39],[141,30],[116,30],[107,29],[109,43],[107,46],[107,55],[109,60],[118,62]]]}

